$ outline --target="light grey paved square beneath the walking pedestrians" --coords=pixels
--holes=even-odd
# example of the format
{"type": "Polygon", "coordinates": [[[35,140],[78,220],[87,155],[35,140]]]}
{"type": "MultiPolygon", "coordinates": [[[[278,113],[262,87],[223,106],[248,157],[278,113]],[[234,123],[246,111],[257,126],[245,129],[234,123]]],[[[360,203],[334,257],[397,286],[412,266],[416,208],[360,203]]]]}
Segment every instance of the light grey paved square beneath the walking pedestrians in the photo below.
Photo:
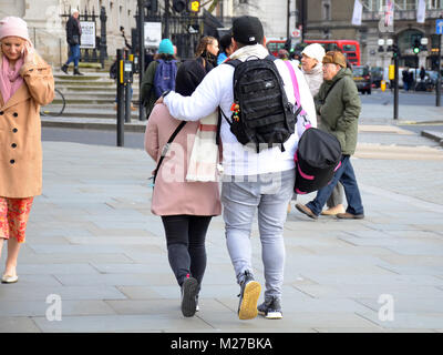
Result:
{"type": "MultiPolygon", "coordinates": [[[[442,118],[423,110],[408,108],[402,120],[442,118]]],[[[207,234],[200,311],[183,317],[163,225],[150,211],[153,161],[142,148],[43,142],[43,194],[20,280],[0,284],[0,333],[442,333],[443,150],[389,116],[382,104],[363,105],[352,164],[364,220],[288,214],[280,321],[238,320],[220,216],[207,234]]],[[[257,224],[251,243],[264,285],[257,224]]]]}

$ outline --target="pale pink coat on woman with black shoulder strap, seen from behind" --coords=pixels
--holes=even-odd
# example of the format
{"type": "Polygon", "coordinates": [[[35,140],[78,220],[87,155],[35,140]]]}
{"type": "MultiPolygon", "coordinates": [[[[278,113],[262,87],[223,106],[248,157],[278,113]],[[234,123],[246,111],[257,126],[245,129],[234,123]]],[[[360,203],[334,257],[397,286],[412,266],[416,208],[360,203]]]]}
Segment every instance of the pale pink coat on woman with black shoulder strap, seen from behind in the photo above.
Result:
{"type": "MultiPolygon", "coordinates": [[[[178,126],[164,104],[156,104],[150,115],[145,132],[145,150],[156,162],[163,146],[178,126]]],[[[187,122],[171,144],[155,181],[151,211],[156,215],[219,215],[220,196],[217,182],[187,182],[195,133],[199,121],[187,122]]]]}

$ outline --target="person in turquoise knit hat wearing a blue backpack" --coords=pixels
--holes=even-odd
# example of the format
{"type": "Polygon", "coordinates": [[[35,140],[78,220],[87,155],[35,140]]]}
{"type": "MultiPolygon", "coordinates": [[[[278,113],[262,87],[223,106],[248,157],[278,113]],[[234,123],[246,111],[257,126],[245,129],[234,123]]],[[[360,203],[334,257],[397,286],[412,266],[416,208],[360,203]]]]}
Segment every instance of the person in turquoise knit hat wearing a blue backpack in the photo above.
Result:
{"type": "Polygon", "coordinates": [[[163,39],[158,52],[147,67],[142,81],[141,102],[150,116],[155,101],[165,90],[175,89],[178,61],[174,54],[174,45],[169,39],[163,39]]]}

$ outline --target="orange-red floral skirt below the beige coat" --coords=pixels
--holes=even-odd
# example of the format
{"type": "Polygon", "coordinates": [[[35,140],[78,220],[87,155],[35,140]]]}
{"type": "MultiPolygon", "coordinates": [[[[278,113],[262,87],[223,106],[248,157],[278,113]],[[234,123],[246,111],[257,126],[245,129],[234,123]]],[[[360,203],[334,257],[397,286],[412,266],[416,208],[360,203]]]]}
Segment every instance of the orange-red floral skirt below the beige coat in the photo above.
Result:
{"type": "Polygon", "coordinates": [[[33,200],[34,197],[0,197],[0,237],[6,240],[14,237],[19,243],[24,243],[33,200]]]}

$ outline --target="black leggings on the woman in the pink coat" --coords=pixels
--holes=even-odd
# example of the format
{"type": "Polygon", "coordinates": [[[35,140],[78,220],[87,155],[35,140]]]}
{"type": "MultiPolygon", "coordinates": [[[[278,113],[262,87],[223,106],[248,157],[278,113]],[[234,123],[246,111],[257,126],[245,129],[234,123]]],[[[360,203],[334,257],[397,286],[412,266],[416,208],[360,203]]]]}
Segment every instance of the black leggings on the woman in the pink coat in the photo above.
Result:
{"type": "Polygon", "coordinates": [[[205,239],[212,216],[162,216],[166,233],[167,257],[178,285],[189,275],[202,284],[206,268],[205,239]]]}

